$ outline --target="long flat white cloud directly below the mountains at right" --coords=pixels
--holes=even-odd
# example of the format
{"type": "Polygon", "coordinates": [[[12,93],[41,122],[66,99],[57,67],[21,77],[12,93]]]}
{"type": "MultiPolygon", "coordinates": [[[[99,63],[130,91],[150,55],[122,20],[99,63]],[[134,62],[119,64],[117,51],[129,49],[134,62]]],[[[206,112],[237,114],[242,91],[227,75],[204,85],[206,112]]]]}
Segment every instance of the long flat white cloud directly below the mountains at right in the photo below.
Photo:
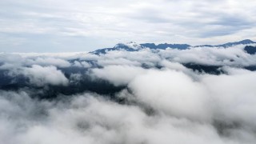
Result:
{"type": "Polygon", "coordinates": [[[255,55],[246,54],[244,45],[223,47],[198,47],[188,50],[160,50],[162,58],[169,58],[173,62],[198,63],[211,66],[250,66],[256,65],[255,55]]]}

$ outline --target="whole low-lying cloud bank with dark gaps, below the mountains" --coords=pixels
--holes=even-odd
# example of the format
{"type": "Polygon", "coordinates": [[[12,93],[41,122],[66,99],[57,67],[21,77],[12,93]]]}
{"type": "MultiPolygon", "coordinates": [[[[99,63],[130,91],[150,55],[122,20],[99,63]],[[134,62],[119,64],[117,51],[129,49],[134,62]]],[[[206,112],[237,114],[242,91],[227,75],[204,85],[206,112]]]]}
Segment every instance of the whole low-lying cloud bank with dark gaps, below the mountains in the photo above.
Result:
{"type": "Polygon", "coordinates": [[[253,144],[243,47],[1,54],[0,142],[253,144]]]}

